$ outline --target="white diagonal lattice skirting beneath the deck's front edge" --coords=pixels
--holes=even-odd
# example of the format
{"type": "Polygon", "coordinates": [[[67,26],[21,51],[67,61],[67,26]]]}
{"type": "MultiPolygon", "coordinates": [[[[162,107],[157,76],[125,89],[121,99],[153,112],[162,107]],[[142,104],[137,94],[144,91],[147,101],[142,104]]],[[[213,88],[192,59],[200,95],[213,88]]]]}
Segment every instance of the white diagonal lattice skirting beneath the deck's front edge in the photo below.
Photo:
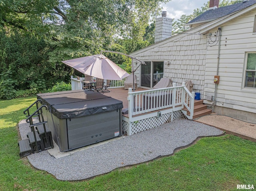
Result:
{"type": "MultiPolygon", "coordinates": [[[[160,117],[151,117],[151,118],[131,122],[130,123],[130,128],[131,128],[130,135],[160,126],[164,123],[170,123],[173,120],[182,118],[182,117],[184,117],[183,113],[181,111],[176,111],[176,112],[171,112],[171,113],[167,113],[167,114],[162,114],[160,117]]],[[[122,126],[123,126],[124,133],[128,134],[129,123],[123,120],[122,126]]]]}

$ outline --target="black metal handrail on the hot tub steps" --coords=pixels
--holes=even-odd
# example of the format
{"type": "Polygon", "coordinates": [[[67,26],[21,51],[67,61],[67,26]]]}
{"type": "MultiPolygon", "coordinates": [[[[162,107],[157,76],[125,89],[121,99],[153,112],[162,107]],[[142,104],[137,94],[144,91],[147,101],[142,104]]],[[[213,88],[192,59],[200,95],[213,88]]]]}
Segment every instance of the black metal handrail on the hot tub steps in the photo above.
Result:
{"type": "MultiPolygon", "coordinates": [[[[44,116],[42,114],[42,108],[45,107],[46,110],[48,109],[48,107],[46,105],[42,105],[40,106],[40,108],[38,108],[34,113],[32,113],[27,119],[26,119],[26,122],[30,124],[30,128],[34,134],[34,139],[35,139],[35,144],[36,144],[36,152],[39,152],[39,148],[38,148],[38,144],[37,144],[37,139],[36,139],[36,132],[35,132],[35,126],[37,125],[43,125],[44,127],[44,133],[45,133],[45,136],[46,136],[46,126],[45,124],[47,123],[47,121],[44,121],[44,116]],[[38,123],[33,123],[33,116],[35,115],[38,115],[40,116],[41,115],[41,121],[39,121],[38,123]]],[[[46,142],[48,143],[48,140],[46,139],[46,142]]]]}

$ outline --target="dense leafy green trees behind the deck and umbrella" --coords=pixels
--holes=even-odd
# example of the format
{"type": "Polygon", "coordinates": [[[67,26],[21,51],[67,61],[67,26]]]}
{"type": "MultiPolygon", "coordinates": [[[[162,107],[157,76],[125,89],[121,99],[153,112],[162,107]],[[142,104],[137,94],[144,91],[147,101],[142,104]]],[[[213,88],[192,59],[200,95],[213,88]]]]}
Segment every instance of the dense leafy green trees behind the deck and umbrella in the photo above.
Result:
{"type": "Polygon", "coordinates": [[[118,49],[116,35],[129,51],[148,45],[146,27],[162,2],[168,0],[0,0],[1,85],[43,90],[67,82],[75,71],[62,60],[118,49]]]}

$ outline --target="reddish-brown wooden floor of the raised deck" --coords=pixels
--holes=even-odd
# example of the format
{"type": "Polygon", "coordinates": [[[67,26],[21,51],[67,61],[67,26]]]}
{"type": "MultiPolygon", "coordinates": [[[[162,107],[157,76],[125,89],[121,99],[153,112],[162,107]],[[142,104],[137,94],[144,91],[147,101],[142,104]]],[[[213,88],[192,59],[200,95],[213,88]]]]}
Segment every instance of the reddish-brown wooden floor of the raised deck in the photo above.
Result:
{"type": "MultiPolygon", "coordinates": [[[[143,91],[147,90],[144,88],[137,88],[135,91],[143,91]]],[[[114,89],[109,89],[110,92],[105,92],[104,95],[110,96],[112,98],[115,98],[117,100],[120,100],[123,102],[124,108],[128,108],[128,90],[125,90],[124,88],[114,88],[114,89]]]]}

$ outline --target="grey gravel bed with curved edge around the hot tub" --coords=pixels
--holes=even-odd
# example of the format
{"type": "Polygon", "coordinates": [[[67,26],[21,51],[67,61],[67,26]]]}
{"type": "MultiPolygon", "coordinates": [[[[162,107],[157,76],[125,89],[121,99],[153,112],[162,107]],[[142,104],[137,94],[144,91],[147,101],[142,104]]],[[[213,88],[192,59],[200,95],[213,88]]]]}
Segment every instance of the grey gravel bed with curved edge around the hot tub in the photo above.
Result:
{"type": "MultiPolygon", "coordinates": [[[[28,124],[19,123],[20,135],[26,138],[28,124]]],[[[177,119],[171,123],[122,136],[105,144],[54,158],[47,150],[28,156],[37,169],[51,173],[59,180],[81,180],[108,173],[118,167],[170,155],[176,148],[191,144],[200,136],[217,136],[221,130],[199,122],[177,119]]]]}

